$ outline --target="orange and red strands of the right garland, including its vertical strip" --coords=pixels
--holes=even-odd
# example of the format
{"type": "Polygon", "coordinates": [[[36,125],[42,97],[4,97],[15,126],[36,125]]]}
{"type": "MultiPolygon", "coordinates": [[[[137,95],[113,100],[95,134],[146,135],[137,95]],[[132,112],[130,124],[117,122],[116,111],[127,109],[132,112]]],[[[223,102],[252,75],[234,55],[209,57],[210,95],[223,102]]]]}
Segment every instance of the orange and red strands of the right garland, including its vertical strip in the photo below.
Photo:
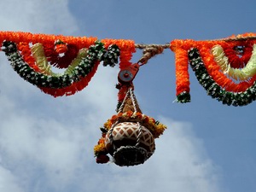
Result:
{"type": "MultiPolygon", "coordinates": [[[[194,40],[173,40],[171,49],[175,53],[176,77],[177,77],[177,102],[189,102],[189,49],[195,48],[199,50],[201,59],[207,69],[207,73],[222,89],[230,91],[230,93],[241,93],[253,88],[256,75],[252,78],[241,82],[235,82],[229,79],[214,60],[211,49],[218,44],[224,47],[225,53],[230,60],[230,67],[244,67],[252,55],[252,45],[256,44],[256,34],[247,33],[231,37],[229,39],[219,39],[211,41],[194,41],[194,40]],[[251,39],[251,37],[253,37],[251,39]],[[241,49],[241,53],[235,53],[234,49],[241,49]]],[[[196,70],[196,69],[195,69],[196,70]]],[[[252,92],[250,90],[249,92],[252,92]]],[[[248,93],[247,93],[248,95],[248,93]]],[[[233,96],[235,98],[235,96],[233,96]]],[[[251,101],[251,99],[248,99],[251,101]]]]}

